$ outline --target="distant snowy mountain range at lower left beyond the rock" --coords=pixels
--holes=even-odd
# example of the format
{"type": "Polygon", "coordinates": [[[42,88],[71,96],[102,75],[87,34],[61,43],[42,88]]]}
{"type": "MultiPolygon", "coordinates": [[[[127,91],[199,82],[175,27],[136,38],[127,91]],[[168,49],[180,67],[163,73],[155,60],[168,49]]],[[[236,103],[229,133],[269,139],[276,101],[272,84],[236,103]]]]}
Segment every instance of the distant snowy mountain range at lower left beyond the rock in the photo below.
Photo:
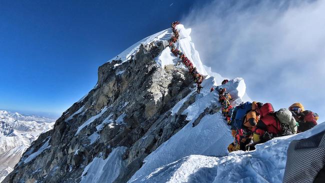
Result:
{"type": "Polygon", "coordinates": [[[38,135],[53,128],[55,119],[0,110],[0,181],[38,135]],[[10,131],[10,133],[7,133],[10,131]]]}

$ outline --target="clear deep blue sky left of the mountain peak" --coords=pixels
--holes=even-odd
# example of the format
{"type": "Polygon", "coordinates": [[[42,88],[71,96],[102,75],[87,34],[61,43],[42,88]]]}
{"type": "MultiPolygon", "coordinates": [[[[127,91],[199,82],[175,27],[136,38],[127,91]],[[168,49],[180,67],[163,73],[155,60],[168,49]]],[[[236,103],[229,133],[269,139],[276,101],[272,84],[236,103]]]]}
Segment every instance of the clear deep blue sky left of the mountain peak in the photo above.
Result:
{"type": "Polygon", "coordinates": [[[197,2],[0,0],[0,108],[62,113],[95,85],[98,66],[197,2]]]}

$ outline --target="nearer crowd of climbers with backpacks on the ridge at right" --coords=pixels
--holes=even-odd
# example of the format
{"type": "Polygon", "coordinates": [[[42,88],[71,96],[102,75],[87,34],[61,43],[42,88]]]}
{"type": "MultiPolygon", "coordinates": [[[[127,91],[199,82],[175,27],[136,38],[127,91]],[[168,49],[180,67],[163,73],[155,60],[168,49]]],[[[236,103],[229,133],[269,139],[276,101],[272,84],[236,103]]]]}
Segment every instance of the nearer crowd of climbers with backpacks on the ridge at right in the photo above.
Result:
{"type": "MultiPolygon", "coordinates": [[[[228,80],[223,80],[225,84],[228,80]]],[[[211,88],[213,91],[214,88],[211,88]]],[[[291,135],[308,130],[317,124],[318,114],[304,110],[301,103],[274,111],[272,104],[261,102],[242,102],[233,107],[231,96],[222,85],[216,88],[222,114],[231,125],[234,141],[228,151],[254,150],[255,144],[263,143],[273,137],[291,135]]]]}

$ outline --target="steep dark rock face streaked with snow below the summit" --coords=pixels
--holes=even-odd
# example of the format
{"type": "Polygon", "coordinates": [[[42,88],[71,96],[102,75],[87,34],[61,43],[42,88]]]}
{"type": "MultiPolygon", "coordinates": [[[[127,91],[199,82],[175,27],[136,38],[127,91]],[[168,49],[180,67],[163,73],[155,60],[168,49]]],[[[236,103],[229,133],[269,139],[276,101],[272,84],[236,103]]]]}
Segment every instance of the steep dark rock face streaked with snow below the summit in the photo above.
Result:
{"type": "Polygon", "coordinates": [[[154,61],[165,46],[141,44],[128,60],[101,65],[96,86],[32,143],[3,182],[79,182],[95,158],[107,159],[120,147],[123,168],[113,180],[126,182],[144,157],[188,122],[181,112],[195,100],[190,95],[170,115],[194,85],[184,68],[154,61]]]}

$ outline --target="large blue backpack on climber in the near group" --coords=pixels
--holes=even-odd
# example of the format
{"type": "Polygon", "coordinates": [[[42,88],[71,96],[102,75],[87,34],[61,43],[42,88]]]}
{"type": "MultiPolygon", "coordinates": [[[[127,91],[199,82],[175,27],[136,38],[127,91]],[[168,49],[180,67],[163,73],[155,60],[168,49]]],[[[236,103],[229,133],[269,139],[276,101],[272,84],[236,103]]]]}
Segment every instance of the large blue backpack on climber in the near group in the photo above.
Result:
{"type": "Polygon", "coordinates": [[[231,129],[241,129],[246,113],[251,110],[251,102],[246,101],[236,106],[231,116],[231,129]]]}

